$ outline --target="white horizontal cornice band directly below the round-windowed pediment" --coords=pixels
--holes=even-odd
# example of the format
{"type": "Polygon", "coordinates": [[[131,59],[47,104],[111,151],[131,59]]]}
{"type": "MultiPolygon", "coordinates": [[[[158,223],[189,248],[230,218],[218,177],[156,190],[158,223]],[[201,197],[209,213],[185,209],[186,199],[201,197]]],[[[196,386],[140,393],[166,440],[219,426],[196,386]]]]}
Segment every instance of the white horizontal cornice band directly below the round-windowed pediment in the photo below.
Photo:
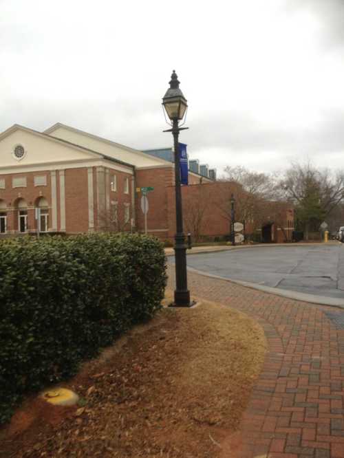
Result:
{"type": "Polygon", "coordinates": [[[66,168],[83,168],[83,167],[107,167],[111,170],[127,173],[133,175],[133,169],[125,166],[114,166],[114,163],[109,160],[70,160],[70,161],[59,161],[59,162],[43,162],[41,164],[30,164],[30,165],[18,165],[18,166],[0,166],[1,175],[12,175],[13,173],[30,173],[30,172],[41,172],[51,170],[65,170],[66,168]]]}

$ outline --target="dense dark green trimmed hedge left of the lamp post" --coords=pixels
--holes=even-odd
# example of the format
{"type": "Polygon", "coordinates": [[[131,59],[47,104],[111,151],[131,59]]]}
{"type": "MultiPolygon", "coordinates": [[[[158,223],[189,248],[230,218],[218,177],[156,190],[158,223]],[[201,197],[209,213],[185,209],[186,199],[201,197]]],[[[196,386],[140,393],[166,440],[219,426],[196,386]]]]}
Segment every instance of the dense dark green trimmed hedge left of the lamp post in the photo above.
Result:
{"type": "Polygon", "coordinates": [[[0,423],[160,309],[162,244],[139,235],[0,243],[0,423]]]}

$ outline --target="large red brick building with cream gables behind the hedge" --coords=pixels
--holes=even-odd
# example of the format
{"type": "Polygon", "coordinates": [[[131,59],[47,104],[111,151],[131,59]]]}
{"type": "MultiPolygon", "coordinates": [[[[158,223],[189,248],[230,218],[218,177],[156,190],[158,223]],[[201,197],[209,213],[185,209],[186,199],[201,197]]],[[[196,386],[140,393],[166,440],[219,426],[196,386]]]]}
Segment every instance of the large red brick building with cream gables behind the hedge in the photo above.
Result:
{"type": "MultiPolygon", "coordinates": [[[[60,123],[44,132],[14,124],[0,134],[0,237],[143,232],[142,196],[136,190],[151,186],[148,232],[172,239],[173,155],[171,149],[156,151],[131,149],[60,123]]],[[[228,235],[230,194],[239,204],[242,189],[235,183],[215,182],[215,171],[211,179],[208,166],[198,167],[197,160],[191,168],[189,186],[182,186],[186,231],[194,236],[228,235]]],[[[272,232],[273,224],[275,220],[267,219],[272,232]]],[[[246,232],[252,230],[252,221],[246,219],[246,232]]],[[[278,236],[272,235],[271,241],[278,236]]]]}

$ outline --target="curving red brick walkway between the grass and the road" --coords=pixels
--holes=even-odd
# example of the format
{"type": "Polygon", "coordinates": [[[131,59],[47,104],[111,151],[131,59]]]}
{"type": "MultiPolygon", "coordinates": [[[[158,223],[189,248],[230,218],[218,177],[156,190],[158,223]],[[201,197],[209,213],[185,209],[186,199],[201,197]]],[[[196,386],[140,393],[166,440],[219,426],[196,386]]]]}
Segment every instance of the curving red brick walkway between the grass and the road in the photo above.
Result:
{"type": "MultiPolygon", "coordinates": [[[[169,287],[173,283],[170,267],[169,287]]],[[[240,446],[224,457],[344,458],[344,329],[335,322],[344,311],[193,272],[188,283],[191,295],[255,318],[269,343],[241,422],[240,446]]]]}

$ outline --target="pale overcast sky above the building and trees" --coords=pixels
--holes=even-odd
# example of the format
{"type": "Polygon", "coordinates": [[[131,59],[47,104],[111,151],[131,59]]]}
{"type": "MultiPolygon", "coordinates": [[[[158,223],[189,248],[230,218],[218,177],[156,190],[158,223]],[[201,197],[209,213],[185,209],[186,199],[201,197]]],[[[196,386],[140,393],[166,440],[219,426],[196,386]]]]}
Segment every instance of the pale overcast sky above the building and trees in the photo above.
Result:
{"type": "Polygon", "coordinates": [[[0,131],[63,122],[171,146],[172,69],[191,158],[344,165],[344,0],[0,0],[0,131]]]}

